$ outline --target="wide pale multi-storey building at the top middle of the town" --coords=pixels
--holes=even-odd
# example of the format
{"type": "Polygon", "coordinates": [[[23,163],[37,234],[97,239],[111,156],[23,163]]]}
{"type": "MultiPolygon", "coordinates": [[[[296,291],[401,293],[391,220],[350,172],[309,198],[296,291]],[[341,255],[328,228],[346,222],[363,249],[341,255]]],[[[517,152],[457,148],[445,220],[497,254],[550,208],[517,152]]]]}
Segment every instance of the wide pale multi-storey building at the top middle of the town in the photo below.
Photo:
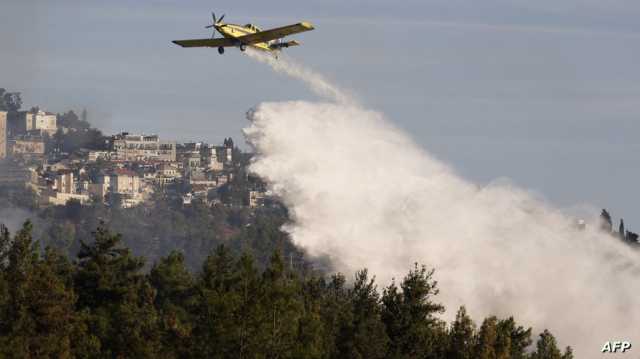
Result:
{"type": "Polygon", "coordinates": [[[176,143],[160,141],[157,135],[130,135],[123,132],[112,139],[115,159],[120,161],[176,160],[176,143]]]}

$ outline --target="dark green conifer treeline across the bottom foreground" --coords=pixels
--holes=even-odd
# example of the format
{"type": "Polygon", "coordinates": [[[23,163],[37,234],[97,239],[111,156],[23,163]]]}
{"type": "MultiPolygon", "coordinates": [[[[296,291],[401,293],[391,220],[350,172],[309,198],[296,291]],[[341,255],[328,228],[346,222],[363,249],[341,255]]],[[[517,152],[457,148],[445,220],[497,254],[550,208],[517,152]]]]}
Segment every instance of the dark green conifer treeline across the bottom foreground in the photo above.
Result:
{"type": "Polygon", "coordinates": [[[0,231],[0,357],[571,358],[513,318],[447,325],[433,271],[417,264],[378,291],[366,270],[299,274],[274,251],[264,269],[219,246],[192,274],[174,251],[144,259],[104,225],[74,261],[40,251],[27,222],[0,231]],[[527,352],[530,348],[531,352],[527,352]]]}

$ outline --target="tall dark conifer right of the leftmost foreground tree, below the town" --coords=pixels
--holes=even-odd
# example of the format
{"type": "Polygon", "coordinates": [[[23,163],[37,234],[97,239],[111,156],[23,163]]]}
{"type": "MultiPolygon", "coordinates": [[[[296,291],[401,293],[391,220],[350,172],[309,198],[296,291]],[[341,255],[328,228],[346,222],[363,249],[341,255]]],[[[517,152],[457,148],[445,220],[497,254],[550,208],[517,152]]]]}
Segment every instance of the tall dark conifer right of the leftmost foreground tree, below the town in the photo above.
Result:
{"type": "Polygon", "coordinates": [[[87,310],[89,328],[108,356],[156,357],[160,353],[155,290],[140,273],[141,258],[121,247],[121,236],[104,224],[94,242],[81,243],[75,288],[78,309],[87,310]]]}

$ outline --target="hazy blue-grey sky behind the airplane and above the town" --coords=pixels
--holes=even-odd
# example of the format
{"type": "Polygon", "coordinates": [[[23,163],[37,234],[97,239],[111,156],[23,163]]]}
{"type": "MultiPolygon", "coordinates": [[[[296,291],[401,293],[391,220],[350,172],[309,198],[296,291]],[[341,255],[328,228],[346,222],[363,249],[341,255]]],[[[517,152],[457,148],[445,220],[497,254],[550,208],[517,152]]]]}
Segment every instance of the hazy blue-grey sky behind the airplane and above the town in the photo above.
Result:
{"type": "Polygon", "coordinates": [[[178,141],[241,139],[252,106],[314,99],[237,50],[170,42],[210,36],[211,11],[262,28],[312,22],[288,54],[461,176],[606,207],[640,231],[635,0],[4,0],[0,87],[26,107],[87,108],[106,133],[178,141]]]}

